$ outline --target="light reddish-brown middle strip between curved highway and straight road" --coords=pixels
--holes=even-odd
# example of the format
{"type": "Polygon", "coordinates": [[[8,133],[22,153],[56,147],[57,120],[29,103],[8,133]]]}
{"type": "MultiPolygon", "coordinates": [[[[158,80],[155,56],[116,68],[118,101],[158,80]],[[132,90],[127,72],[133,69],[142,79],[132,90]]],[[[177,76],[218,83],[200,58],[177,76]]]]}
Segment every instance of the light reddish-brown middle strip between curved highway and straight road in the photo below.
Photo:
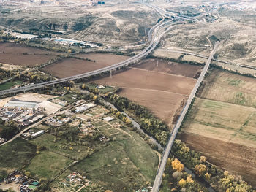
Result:
{"type": "Polygon", "coordinates": [[[195,79],[181,77],[173,74],[150,72],[144,69],[128,69],[105,77],[95,82],[123,88],[143,88],[157,91],[168,91],[188,96],[194,88],[195,79]]]}

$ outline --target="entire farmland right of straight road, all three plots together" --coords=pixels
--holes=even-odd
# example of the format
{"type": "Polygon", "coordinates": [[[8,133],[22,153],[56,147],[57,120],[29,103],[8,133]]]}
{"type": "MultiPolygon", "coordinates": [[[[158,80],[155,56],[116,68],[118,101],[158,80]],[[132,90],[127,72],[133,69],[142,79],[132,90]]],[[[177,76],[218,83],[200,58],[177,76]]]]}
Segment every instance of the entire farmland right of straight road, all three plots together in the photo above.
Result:
{"type": "Polygon", "coordinates": [[[256,80],[213,69],[181,129],[181,139],[212,164],[256,186],[256,80]],[[214,147],[213,147],[214,146],[214,147]]]}

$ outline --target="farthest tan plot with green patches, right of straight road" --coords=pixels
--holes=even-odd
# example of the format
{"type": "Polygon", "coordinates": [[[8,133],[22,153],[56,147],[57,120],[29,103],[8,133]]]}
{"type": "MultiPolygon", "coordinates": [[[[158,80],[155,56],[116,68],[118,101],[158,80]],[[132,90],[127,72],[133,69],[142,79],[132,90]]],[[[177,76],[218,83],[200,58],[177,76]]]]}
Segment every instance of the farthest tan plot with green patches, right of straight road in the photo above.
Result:
{"type": "Polygon", "coordinates": [[[200,97],[256,107],[256,79],[214,70],[200,97]]]}

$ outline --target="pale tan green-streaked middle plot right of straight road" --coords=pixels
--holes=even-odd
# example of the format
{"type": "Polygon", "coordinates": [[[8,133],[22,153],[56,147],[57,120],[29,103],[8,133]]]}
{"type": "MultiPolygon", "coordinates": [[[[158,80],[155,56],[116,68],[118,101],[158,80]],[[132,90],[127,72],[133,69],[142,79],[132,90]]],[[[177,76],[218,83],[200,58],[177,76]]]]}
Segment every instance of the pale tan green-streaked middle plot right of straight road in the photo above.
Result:
{"type": "Polygon", "coordinates": [[[196,99],[183,131],[203,137],[256,146],[256,109],[196,99]]]}

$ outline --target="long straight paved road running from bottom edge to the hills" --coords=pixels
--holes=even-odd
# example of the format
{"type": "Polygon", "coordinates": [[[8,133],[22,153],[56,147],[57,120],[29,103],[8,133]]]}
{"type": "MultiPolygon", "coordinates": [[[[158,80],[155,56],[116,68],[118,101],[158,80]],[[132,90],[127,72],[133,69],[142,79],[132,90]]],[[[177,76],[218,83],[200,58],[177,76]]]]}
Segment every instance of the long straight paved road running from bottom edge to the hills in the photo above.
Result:
{"type": "Polygon", "coordinates": [[[214,54],[216,53],[218,47],[219,47],[219,41],[217,41],[215,43],[214,50],[211,51],[211,55],[208,58],[208,61],[206,62],[206,65],[204,66],[203,71],[201,72],[200,77],[198,78],[198,80],[197,80],[197,82],[195,84],[195,87],[193,88],[193,90],[192,90],[192,92],[191,92],[191,94],[189,96],[189,99],[187,100],[187,104],[185,105],[183,111],[181,112],[181,115],[178,118],[176,126],[173,128],[173,131],[170,134],[170,138],[169,138],[169,140],[167,142],[167,146],[165,147],[165,152],[164,152],[164,154],[162,156],[162,161],[161,161],[161,164],[159,166],[159,169],[158,169],[158,172],[157,172],[157,176],[156,176],[156,178],[154,180],[154,185],[153,185],[152,192],[158,192],[159,191],[160,185],[162,183],[162,174],[165,171],[165,164],[166,164],[167,159],[169,157],[171,147],[173,146],[174,139],[176,138],[176,135],[178,133],[178,129],[180,128],[181,123],[182,123],[182,121],[183,121],[183,119],[184,119],[184,117],[185,117],[185,115],[187,113],[187,110],[189,109],[189,106],[190,106],[192,100],[195,97],[195,93],[197,93],[197,90],[198,90],[198,88],[200,86],[200,83],[203,81],[203,77],[205,77],[205,75],[206,75],[208,67],[211,64],[211,60],[214,57],[214,54]]]}

